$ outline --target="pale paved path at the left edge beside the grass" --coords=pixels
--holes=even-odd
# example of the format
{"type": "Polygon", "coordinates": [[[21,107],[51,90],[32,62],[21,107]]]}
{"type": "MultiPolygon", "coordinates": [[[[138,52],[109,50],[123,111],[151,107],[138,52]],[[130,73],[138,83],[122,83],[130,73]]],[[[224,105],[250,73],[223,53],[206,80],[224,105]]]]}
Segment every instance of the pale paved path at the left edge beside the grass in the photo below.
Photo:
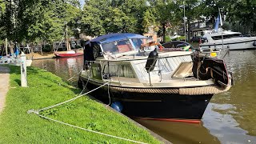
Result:
{"type": "Polygon", "coordinates": [[[5,106],[6,94],[9,90],[9,72],[8,67],[0,66],[0,113],[5,106]]]}

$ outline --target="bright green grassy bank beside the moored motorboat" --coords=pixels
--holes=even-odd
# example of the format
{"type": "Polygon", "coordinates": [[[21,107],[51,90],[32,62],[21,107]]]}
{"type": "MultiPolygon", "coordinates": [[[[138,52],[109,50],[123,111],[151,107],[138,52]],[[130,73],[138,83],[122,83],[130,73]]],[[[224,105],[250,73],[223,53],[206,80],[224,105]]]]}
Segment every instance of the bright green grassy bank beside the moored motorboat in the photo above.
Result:
{"type": "MultiPolygon", "coordinates": [[[[69,86],[54,74],[33,67],[27,69],[28,88],[20,86],[20,68],[10,66],[10,90],[6,108],[0,115],[0,143],[131,143],[94,134],[27,114],[74,98],[80,90],[69,86]]],[[[159,143],[146,130],[128,118],[107,109],[88,97],[43,111],[58,121],[148,143],[159,143]]]]}

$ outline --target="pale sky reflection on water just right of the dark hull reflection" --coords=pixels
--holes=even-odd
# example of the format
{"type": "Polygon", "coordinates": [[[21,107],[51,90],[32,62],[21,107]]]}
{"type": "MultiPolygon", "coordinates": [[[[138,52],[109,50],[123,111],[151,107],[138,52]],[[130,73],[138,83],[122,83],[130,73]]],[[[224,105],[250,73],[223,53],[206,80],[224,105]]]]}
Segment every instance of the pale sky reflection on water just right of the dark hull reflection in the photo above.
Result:
{"type": "Polygon", "coordinates": [[[230,104],[210,103],[202,119],[203,126],[222,143],[255,143],[256,138],[248,135],[233,118],[233,114],[238,114],[235,110],[230,104]]]}

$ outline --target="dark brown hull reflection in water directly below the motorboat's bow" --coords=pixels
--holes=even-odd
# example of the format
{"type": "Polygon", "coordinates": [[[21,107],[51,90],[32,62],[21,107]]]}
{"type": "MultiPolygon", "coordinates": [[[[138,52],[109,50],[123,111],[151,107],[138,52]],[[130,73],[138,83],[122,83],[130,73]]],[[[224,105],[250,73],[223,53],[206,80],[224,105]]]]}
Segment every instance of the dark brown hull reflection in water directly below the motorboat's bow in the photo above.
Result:
{"type": "Polygon", "coordinates": [[[135,120],[173,143],[220,143],[202,124],[135,120]]]}

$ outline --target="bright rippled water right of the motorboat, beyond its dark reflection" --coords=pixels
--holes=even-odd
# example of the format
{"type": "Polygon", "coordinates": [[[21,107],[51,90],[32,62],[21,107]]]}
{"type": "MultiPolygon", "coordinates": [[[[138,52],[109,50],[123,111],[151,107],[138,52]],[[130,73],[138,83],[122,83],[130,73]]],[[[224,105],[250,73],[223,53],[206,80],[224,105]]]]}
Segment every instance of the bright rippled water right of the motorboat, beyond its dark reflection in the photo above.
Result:
{"type": "Polygon", "coordinates": [[[230,51],[225,60],[234,74],[235,85],[214,96],[203,122],[222,142],[256,143],[256,51],[230,51]],[[208,112],[209,109],[213,110],[208,112]]]}

